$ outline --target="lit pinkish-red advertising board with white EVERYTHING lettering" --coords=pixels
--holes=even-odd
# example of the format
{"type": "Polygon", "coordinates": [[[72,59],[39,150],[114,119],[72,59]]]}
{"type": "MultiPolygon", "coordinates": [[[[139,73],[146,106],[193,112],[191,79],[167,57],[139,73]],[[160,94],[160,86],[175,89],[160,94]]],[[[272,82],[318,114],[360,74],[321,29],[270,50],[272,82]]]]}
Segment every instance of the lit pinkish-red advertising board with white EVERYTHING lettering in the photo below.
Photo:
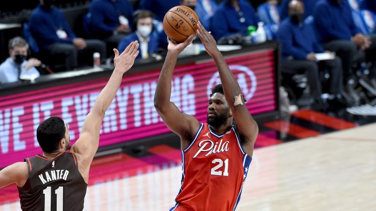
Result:
{"type": "MultiPolygon", "coordinates": [[[[226,57],[251,114],[276,110],[273,50],[226,57]]],[[[159,69],[126,73],[100,131],[99,147],[169,132],[154,108],[159,69]]],[[[50,116],[68,124],[71,141],[108,77],[0,97],[0,168],[41,153],[36,128],[50,116]]],[[[171,101],[183,112],[206,121],[211,87],[220,82],[212,60],[179,65],[174,70],[171,101]]]]}

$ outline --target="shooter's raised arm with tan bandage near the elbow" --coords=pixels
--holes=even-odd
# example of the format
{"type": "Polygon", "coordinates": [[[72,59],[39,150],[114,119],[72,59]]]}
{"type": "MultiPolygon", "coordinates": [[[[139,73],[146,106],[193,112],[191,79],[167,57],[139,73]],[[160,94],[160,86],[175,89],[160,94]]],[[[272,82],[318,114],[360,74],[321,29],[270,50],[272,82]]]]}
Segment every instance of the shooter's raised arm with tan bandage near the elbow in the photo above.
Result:
{"type": "Polygon", "coordinates": [[[214,38],[205,30],[200,22],[197,26],[198,36],[200,37],[206,51],[211,55],[217,65],[219,77],[221,78],[223,86],[223,92],[225,93],[226,101],[233,111],[236,130],[242,140],[243,149],[247,154],[252,156],[253,146],[258,135],[258,125],[245,106],[240,86],[221,52],[218,50],[214,38]]]}

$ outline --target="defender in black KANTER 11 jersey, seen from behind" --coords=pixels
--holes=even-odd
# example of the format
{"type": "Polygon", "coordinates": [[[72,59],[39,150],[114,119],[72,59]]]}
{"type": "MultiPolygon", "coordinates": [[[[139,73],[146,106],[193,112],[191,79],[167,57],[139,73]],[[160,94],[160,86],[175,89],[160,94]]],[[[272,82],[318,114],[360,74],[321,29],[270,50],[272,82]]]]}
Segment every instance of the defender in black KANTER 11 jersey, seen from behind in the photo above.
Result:
{"type": "Polygon", "coordinates": [[[139,51],[132,42],[119,55],[114,49],[115,69],[93,109],[87,115],[78,140],[71,147],[68,127],[59,117],[51,117],[37,129],[43,155],[25,158],[0,171],[0,188],[16,183],[23,211],[82,211],[89,180],[89,169],[98,149],[99,130],[113,101],[123,74],[139,51]],[[70,152],[66,152],[70,149],[70,152]]]}

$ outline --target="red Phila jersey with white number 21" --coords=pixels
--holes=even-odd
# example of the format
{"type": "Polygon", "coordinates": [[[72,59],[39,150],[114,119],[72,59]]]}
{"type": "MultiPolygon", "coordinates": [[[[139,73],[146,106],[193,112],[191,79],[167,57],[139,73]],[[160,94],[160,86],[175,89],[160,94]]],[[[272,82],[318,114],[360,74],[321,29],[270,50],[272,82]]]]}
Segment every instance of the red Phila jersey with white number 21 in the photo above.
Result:
{"type": "Polygon", "coordinates": [[[215,134],[201,124],[182,151],[182,186],[170,211],[234,211],[252,158],[241,148],[234,127],[215,134]]]}

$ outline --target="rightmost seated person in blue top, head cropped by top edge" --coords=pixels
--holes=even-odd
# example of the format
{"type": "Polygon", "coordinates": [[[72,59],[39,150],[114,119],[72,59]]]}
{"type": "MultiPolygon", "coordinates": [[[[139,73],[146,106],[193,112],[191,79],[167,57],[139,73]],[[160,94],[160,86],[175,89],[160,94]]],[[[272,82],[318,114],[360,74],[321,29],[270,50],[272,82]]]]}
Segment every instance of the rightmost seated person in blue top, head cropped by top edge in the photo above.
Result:
{"type": "Polygon", "coordinates": [[[347,0],[319,0],[313,11],[319,42],[324,43],[325,49],[335,51],[342,59],[345,89],[348,92],[354,83],[351,79],[352,65],[364,59],[373,63],[370,78],[376,86],[376,35],[361,34],[351,14],[347,0]]]}

